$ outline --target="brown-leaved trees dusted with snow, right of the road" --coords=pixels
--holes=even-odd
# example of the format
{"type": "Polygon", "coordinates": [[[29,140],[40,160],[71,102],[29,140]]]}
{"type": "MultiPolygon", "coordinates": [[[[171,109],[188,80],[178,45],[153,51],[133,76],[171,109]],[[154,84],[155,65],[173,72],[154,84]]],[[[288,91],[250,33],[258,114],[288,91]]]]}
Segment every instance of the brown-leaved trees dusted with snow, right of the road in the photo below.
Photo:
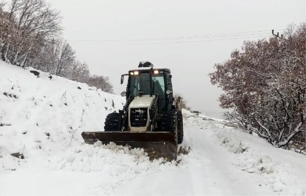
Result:
{"type": "Polygon", "coordinates": [[[305,131],[306,25],[289,26],[282,39],[244,42],[215,64],[211,83],[225,92],[220,106],[237,127],[287,148],[305,131]]]}

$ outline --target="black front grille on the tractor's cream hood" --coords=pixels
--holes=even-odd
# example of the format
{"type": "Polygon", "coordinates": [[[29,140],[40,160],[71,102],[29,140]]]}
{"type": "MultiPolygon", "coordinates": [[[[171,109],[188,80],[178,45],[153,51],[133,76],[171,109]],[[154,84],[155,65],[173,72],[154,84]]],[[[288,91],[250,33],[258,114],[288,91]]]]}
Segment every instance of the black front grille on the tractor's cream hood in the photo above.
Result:
{"type": "Polygon", "coordinates": [[[131,108],[131,126],[142,127],[147,125],[147,108],[131,108]]]}

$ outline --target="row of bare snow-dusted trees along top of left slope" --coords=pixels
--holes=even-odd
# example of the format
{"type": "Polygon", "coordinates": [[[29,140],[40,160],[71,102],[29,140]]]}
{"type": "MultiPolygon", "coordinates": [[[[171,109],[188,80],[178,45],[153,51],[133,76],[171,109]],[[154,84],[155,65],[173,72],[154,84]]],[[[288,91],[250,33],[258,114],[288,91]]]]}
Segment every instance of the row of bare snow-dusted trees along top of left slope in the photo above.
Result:
{"type": "Polygon", "coordinates": [[[91,76],[87,63],[77,60],[76,52],[61,37],[61,19],[45,0],[0,2],[0,58],[113,93],[108,77],[91,76]]]}

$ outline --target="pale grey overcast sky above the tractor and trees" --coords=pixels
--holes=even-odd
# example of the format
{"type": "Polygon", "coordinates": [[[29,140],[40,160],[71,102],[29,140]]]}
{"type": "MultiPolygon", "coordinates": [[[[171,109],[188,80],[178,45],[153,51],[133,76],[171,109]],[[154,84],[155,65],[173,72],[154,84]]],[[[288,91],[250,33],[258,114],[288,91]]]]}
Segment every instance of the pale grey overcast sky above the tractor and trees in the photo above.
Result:
{"type": "Polygon", "coordinates": [[[270,36],[271,29],[306,21],[305,0],[48,1],[61,11],[63,36],[77,57],[88,63],[91,74],[109,76],[116,93],[125,90],[121,74],[140,61],[150,61],[169,67],[174,91],[202,111],[221,111],[217,101],[221,90],[211,85],[207,74],[214,63],[241,47],[244,39],[234,38],[256,40],[270,36]],[[236,32],[248,33],[230,34],[236,32]],[[217,34],[225,35],[152,40],[217,34]]]}

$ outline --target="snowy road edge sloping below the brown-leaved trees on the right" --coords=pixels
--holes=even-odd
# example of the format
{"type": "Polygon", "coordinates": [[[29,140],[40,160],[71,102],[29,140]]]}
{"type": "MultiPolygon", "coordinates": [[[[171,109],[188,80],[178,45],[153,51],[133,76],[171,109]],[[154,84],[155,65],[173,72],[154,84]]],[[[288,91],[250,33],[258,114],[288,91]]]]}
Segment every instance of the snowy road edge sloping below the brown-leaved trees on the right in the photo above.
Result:
{"type": "Polygon", "coordinates": [[[235,165],[255,175],[263,175],[265,186],[281,195],[305,195],[306,156],[277,149],[266,140],[248,134],[243,130],[225,126],[226,121],[207,119],[204,115],[192,115],[203,131],[209,131],[215,142],[225,146],[234,154],[235,165]]]}

